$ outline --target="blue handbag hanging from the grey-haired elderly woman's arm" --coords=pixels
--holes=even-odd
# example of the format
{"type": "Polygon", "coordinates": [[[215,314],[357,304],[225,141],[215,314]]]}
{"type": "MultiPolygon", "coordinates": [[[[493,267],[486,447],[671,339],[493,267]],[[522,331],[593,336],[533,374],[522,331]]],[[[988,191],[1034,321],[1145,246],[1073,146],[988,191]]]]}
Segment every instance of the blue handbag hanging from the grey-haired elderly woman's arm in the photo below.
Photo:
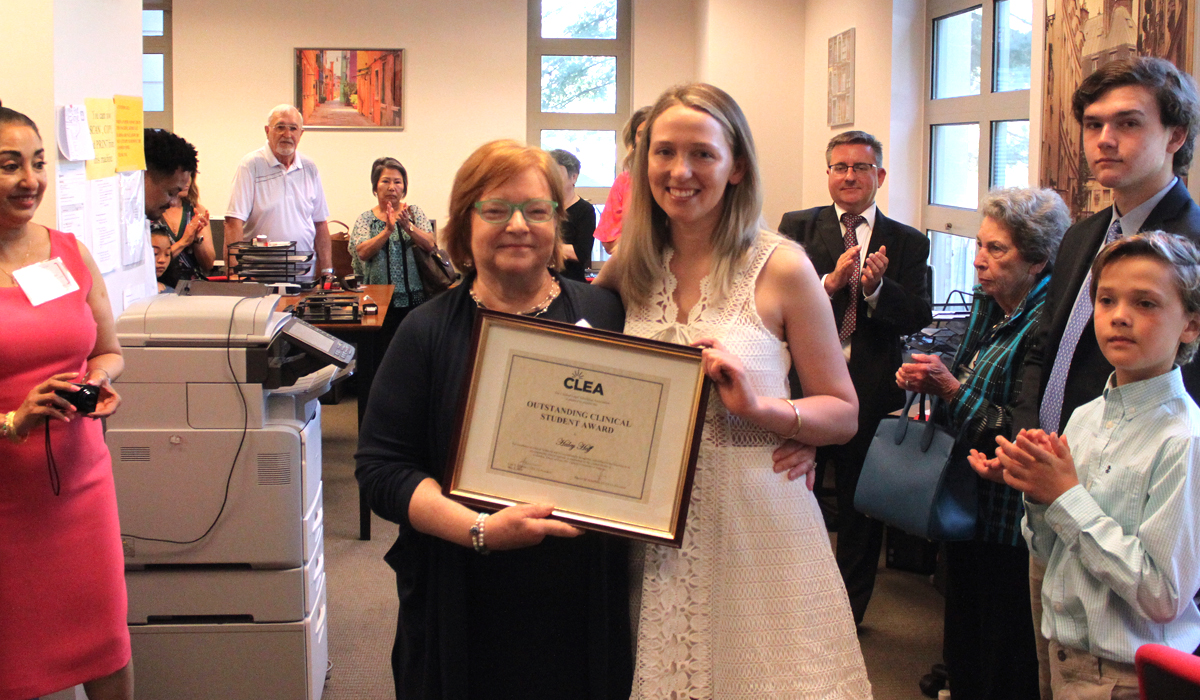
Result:
{"type": "Polygon", "coordinates": [[[924,420],[924,394],[920,420],[908,417],[917,396],[908,393],[901,414],[880,421],[858,477],[854,509],[925,539],[973,539],[979,477],[959,436],[934,423],[936,397],[930,420],[924,420]]]}

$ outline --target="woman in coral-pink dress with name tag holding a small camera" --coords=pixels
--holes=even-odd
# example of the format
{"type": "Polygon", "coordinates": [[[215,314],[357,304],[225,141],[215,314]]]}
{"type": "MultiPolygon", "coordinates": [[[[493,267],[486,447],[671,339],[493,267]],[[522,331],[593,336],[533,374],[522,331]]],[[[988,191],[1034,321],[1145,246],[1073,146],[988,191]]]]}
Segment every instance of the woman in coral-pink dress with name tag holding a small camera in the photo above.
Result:
{"type": "Polygon", "coordinates": [[[124,557],[101,423],[125,366],[104,280],[68,233],[34,223],[37,126],[0,107],[0,700],[84,684],[133,698],[124,557]],[[55,390],[100,393],[82,414],[55,390]]]}

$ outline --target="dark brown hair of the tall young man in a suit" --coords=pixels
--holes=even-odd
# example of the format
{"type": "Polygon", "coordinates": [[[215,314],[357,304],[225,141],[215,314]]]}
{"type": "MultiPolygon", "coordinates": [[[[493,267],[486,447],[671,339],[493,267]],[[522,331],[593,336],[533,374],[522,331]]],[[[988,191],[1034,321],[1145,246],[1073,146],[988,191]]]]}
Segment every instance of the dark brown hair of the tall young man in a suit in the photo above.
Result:
{"type": "Polygon", "coordinates": [[[1140,85],[1158,102],[1158,115],[1163,126],[1182,126],[1187,133],[1183,145],[1175,151],[1171,163],[1176,175],[1188,174],[1196,134],[1200,133],[1200,96],[1192,76],[1175,67],[1166,59],[1134,56],[1104,64],[1094,73],[1084,78],[1072,96],[1070,107],[1075,121],[1084,122],[1084,110],[1114,89],[1140,85]]]}

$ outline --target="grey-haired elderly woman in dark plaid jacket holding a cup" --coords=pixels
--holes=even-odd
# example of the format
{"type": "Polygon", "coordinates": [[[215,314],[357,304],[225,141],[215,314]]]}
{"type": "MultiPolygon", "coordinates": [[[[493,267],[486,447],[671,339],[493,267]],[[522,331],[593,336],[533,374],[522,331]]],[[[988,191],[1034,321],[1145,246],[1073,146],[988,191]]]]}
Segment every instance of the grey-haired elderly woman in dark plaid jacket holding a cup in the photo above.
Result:
{"type": "MultiPolygon", "coordinates": [[[[979,285],[952,369],[937,355],[914,354],[896,372],[900,387],[944,401],[935,419],[961,432],[964,469],[970,468],[965,448],[991,456],[996,436],[1013,437],[1016,378],[1042,316],[1050,264],[1070,225],[1052,190],[995,190],[979,211],[979,285]]],[[[1038,696],[1021,515],[1019,491],[980,479],[974,539],[946,545],[944,656],[955,700],[1038,696]]]]}

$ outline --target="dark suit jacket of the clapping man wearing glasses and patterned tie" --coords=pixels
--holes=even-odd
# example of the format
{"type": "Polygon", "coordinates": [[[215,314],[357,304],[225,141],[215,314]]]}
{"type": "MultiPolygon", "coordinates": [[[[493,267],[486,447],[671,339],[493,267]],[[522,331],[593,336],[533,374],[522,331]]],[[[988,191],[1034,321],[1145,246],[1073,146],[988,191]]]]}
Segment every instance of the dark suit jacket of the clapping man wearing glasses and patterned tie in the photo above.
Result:
{"type": "MultiPolygon", "coordinates": [[[[779,223],[779,232],[804,246],[817,275],[832,273],[846,251],[832,205],[788,211],[779,223]]],[[[868,253],[880,246],[888,249],[880,301],[869,312],[870,306],[859,294],[858,322],[850,339],[850,377],[858,391],[860,417],[880,417],[904,406],[904,390],[896,387],[895,379],[904,352],[901,339],[925,328],[932,319],[925,277],[929,239],[876,209],[868,253]]],[[[851,301],[850,287],[839,289],[830,301],[840,324],[851,301]]]]}

